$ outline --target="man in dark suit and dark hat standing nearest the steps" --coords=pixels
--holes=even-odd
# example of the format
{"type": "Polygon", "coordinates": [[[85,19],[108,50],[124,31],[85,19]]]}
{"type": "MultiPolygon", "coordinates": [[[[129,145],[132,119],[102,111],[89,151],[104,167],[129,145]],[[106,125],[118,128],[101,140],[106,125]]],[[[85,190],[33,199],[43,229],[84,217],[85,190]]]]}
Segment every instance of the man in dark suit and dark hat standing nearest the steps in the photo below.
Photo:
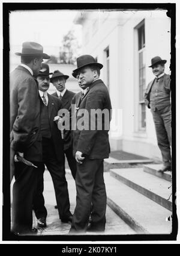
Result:
{"type": "Polygon", "coordinates": [[[73,70],[79,85],[86,90],[83,95],[77,93],[74,97],[76,108],[72,111],[77,196],[70,233],[104,231],[106,225],[103,161],[110,152],[108,132],[112,107],[107,87],[99,78],[102,67],[91,55],[82,55],[77,58],[77,69],[73,70]],[[94,115],[92,111],[104,114],[94,115]],[[88,226],[90,213],[92,220],[88,226]]]}

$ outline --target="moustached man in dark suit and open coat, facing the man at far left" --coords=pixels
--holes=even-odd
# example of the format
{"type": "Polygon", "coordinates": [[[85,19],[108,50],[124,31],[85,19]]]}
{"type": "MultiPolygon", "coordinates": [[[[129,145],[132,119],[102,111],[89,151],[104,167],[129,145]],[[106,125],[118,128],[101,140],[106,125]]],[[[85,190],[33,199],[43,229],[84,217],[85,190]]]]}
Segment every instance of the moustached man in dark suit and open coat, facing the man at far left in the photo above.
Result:
{"type": "Polygon", "coordinates": [[[54,118],[62,108],[58,98],[49,95],[49,66],[42,63],[42,69],[37,76],[38,88],[41,97],[41,135],[43,145],[43,162],[38,166],[39,177],[37,193],[34,196],[34,212],[38,219],[38,226],[46,227],[47,210],[43,197],[44,164],[52,176],[55,188],[56,202],[58,205],[59,219],[61,222],[71,222],[70,201],[68,196],[67,181],[65,179],[64,152],[61,131],[54,118]]]}

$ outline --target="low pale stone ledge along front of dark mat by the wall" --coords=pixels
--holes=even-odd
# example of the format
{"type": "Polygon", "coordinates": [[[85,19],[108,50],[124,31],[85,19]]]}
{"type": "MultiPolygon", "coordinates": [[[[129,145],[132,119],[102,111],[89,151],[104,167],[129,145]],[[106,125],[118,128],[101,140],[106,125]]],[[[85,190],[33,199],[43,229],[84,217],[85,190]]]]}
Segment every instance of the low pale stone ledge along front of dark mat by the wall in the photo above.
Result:
{"type": "Polygon", "coordinates": [[[109,172],[112,168],[140,167],[142,164],[152,163],[151,159],[118,160],[113,157],[104,159],[104,172],[109,172]]]}

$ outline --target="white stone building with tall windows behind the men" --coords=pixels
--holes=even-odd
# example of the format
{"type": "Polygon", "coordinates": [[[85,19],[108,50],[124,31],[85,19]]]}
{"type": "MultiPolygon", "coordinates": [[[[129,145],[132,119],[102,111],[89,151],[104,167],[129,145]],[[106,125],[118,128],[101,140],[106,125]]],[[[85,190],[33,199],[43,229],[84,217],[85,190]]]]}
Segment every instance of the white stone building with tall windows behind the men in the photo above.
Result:
{"type": "Polygon", "coordinates": [[[161,159],[151,111],[143,95],[154,78],[149,64],[159,55],[170,73],[170,18],[166,10],[85,11],[74,23],[82,25],[82,54],[91,54],[104,65],[101,79],[109,87],[112,107],[122,110],[113,117],[112,150],[122,149],[161,159]],[[118,129],[113,130],[113,123],[118,129]]]}

